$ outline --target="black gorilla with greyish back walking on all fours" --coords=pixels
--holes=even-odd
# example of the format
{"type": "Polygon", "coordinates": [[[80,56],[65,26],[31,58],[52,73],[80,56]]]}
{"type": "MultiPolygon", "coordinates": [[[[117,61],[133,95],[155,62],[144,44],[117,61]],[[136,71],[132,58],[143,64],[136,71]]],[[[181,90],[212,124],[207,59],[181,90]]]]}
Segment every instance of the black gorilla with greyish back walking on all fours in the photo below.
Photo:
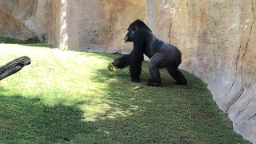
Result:
{"type": "Polygon", "coordinates": [[[182,62],[182,54],[177,47],[158,39],[144,22],[137,19],[128,27],[126,42],[134,42],[134,49],[130,54],[116,58],[112,64],[117,68],[130,65],[132,82],[140,82],[143,54],[150,58],[149,69],[151,79],[148,86],[162,86],[159,68],[165,67],[177,84],[186,85],[186,78],[178,70],[182,62]]]}

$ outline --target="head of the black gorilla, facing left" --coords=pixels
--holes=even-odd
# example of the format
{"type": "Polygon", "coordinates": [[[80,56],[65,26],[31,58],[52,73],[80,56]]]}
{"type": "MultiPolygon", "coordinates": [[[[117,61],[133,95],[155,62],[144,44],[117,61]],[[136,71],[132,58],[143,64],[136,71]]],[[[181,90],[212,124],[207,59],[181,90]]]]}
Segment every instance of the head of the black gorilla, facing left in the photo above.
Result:
{"type": "Polygon", "coordinates": [[[137,30],[140,29],[146,29],[146,30],[150,30],[150,28],[148,26],[146,26],[146,24],[144,22],[142,22],[142,20],[137,19],[134,22],[132,22],[130,24],[130,26],[128,27],[128,33],[126,34],[125,37],[125,42],[134,42],[134,33],[137,30]]]}

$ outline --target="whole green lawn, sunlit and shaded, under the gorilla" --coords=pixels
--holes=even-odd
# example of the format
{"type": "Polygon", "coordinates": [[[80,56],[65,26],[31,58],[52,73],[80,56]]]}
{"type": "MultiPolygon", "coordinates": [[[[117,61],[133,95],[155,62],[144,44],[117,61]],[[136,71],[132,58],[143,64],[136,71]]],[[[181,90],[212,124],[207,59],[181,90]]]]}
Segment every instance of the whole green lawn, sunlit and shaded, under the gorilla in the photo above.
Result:
{"type": "Polygon", "coordinates": [[[146,62],[133,83],[107,70],[118,55],[20,45],[0,45],[0,66],[22,55],[31,64],[0,82],[2,143],[250,143],[186,71],[187,86],[161,70],[165,86],[149,87],[146,62]]]}

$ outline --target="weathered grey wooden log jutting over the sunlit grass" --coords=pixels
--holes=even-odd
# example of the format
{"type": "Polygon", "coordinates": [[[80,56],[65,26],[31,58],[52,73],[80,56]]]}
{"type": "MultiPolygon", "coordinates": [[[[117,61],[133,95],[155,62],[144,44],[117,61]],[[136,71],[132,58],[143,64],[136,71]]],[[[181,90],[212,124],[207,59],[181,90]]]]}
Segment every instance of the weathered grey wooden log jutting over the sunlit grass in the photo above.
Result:
{"type": "Polygon", "coordinates": [[[6,65],[0,67],[0,81],[3,78],[10,76],[11,74],[17,73],[19,70],[26,65],[30,65],[31,59],[27,56],[21,58],[16,58],[11,62],[6,63],[6,65]]]}

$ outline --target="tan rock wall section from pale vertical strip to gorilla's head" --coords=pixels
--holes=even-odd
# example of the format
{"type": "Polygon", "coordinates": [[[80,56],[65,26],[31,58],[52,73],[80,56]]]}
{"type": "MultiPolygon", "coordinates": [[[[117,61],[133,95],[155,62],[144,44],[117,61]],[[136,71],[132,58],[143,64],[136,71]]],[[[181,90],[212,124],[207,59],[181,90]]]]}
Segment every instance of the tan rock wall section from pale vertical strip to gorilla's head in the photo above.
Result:
{"type": "MultiPolygon", "coordinates": [[[[126,26],[146,18],[146,1],[61,0],[60,48],[113,51],[121,49],[126,26]]],[[[130,49],[129,49],[130,50],[130,49]]]]}

